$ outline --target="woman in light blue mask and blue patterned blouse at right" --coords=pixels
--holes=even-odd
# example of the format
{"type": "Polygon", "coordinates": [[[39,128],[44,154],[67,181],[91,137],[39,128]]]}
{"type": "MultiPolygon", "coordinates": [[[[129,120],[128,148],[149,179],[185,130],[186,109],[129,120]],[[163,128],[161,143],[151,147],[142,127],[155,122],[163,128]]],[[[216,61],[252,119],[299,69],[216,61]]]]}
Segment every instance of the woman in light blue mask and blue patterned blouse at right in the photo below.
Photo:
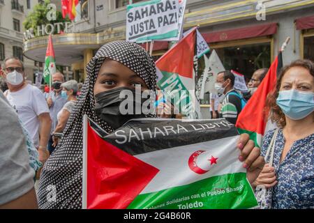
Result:
{"type": "Polygon", "coordinates": [[[285,66],[267,100],[279,129],[264,137],[261,153],[274,148],[272,167],[265,164],[254,185],[268,188],[266,208],[314,208],[314,63],[285,66]]]}

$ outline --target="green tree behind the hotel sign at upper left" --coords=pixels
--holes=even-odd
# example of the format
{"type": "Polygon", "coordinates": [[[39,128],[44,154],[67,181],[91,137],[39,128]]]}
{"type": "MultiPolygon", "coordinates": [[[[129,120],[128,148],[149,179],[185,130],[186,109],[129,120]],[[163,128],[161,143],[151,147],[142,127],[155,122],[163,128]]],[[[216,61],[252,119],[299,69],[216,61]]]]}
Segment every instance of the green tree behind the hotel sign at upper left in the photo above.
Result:
{"type": "MultiPolygon", "coordinates": [[[[38,36],[37,26],[45,25],[45,24],[54,24],[57,22],[70,22],[68,17],[63,19],[62,13],[57,11],[56,20],[49,21],[47,20],[47,14],[50,13],[51,9],[48,8],[48,4],[50,4],[50,0],[45,0],[43,4],[37,4],[33,8],[33,12],[29,13],[26,20],[23,22],[24,29],[33,29],[34,34],[38,36]]],[[[63,27],[61,26],[61,30],[63,31],[63,27]]],[[[54,34],[57,34],[57,29],[54,29],[54,34]]]]}

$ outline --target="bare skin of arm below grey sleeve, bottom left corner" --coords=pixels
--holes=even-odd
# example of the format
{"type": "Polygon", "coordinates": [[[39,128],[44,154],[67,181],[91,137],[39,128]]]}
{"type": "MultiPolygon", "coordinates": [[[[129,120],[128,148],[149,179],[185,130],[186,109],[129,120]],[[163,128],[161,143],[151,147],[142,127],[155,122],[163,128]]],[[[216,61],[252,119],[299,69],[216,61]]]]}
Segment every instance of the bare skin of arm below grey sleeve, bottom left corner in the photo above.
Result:
{"type": "Polygon", "coordinates": [[[35,189],[32,188],[26,194],[8,203],[0,205],[0,209],[37,209],[37,198],[35,189]]]}

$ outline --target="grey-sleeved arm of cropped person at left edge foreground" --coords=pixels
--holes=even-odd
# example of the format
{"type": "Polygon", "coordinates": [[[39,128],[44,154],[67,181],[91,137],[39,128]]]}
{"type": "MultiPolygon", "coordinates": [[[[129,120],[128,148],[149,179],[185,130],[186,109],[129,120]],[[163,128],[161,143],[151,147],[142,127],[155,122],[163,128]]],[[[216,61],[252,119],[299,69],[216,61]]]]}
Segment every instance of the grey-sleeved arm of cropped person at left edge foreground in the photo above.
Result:
{"type": "Polygon", "coordinates": [[[0,208],[37,208],[35,172],[18,116],[0,91],[0,208]]]}

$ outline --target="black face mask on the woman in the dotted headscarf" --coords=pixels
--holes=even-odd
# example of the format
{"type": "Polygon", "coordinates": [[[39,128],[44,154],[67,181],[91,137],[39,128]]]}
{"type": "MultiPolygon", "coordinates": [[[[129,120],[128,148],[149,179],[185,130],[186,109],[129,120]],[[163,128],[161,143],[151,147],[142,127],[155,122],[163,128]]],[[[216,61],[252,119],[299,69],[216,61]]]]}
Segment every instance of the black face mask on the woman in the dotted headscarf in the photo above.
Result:
{"type": "MultiPolygon", "coordinates": [[[[95,95],[96,104],[95,112],[96,114],[103,119],[106,123],[112,126],[112,128],[117,129],[124,125],[127,121],[132,118],[144,118],[145,114],[142,114],[142,104],[147,98],[141,98],[139,102],[135,101],[135,89],[129,89],[126,87],[121,87],[118,89],[112,89],[110,91],[104,91],[95,95]],[[119,97],[121,91],[128,90],[132,92],[133,97],[124,95],[124,98],[119,97]],[[121,105],[123,103],[123,105],[121,105]],[[133,104],[133,109],[131,107],[128,109],[128,105],[133,104]],[[128,114],[120,113],[120,105],[123,109],[129,111],[128,114]],[[135,111],[137,107],[137,111],[135,111]],[[141,110],[138,110],[141,108],[141,110]],[[135,112],[140,114],[135,114],[135,112]]],[[[125,111],[126,112],[126,111],[125,111]]]]}

